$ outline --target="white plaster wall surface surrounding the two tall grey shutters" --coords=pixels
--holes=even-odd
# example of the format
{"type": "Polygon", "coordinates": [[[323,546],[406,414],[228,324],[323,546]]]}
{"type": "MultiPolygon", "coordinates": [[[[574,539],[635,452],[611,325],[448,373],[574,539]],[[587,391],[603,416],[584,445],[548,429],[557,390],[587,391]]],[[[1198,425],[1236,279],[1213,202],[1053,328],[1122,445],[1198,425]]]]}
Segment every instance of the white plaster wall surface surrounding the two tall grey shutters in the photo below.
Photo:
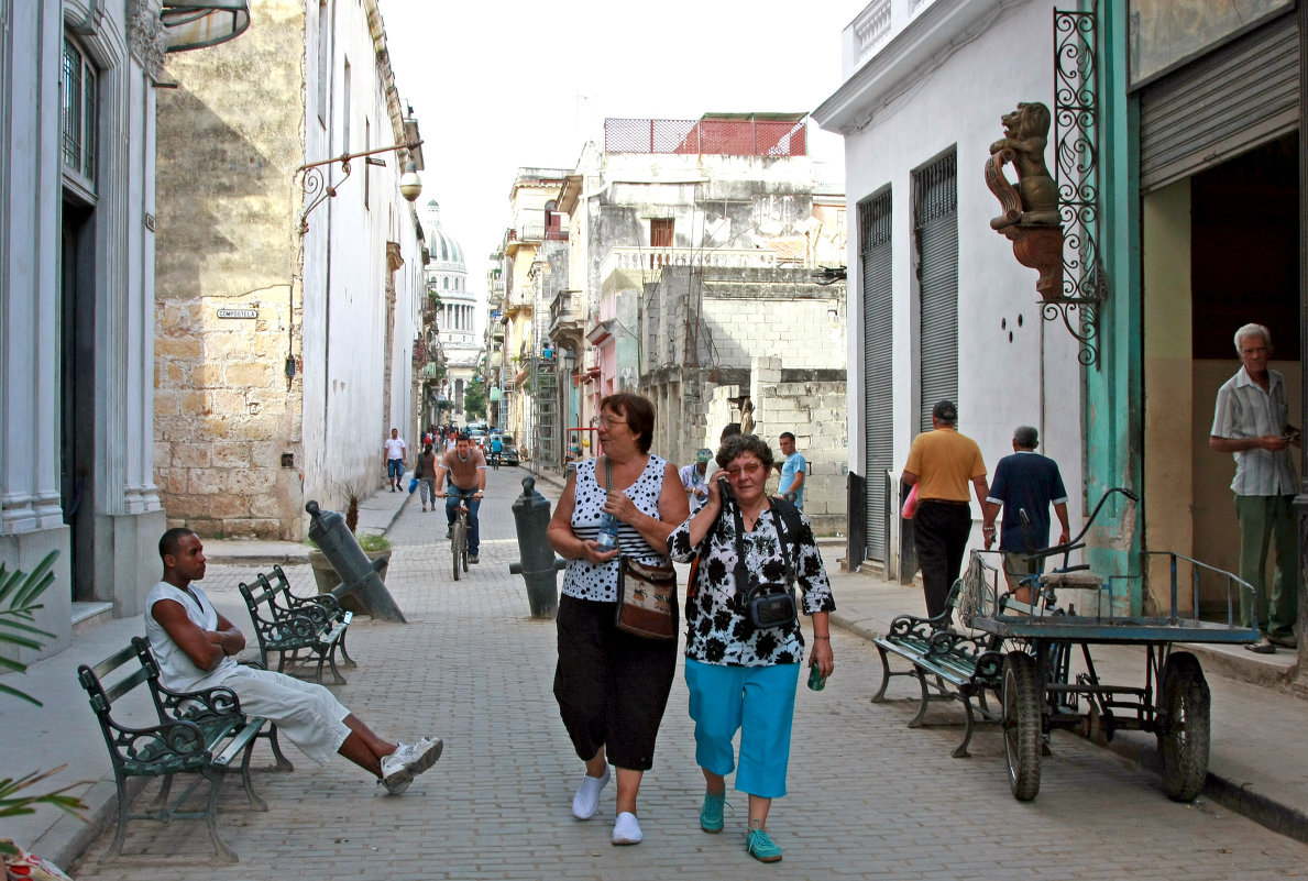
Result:
{"type": "MultiPolygon", "coordinates": [[[[1053,102],[1050,0],[1014,4],[989,26],[926,68],[887,69],[896,84],[875,107],[861,108],[866,127],[846,135],[852,315],[861,316],[857,204],[891,187],[893,199],[893,460],[903,467],[918,434],[918,323],[913,230],[913,174],[938,157],[957,156],[959,416],[981,446],[986,465],[1011,451],[1018,425],[1041,429],[1041,452],[1062,467],[1074,524],[1082,518],[1082,375],[1076,344],[1061,322],[1041,320],[1036,274],[1022,267],[1007,239],[990,229],[998,201],[984,183],[989,145],[1002,136],[999,116],[1018,102],[1053,102]],[[1025,47],[1012,52],[1012,46],[1025,47]],[[993,60],[1003,58],[1005,64],[993,60]],[[1020,319],[1020,320],[1019,320],[1020,319]],[[1011,337],[1010,337],[1011,333],[1011,337]]],[[[909,26],[912,29],[912,26],[909,26]]],[[[904,37],[910,42],[909,37],[904,37]]],[[[1053,161],[1053,133],[1046,150],[1053,161]]],[[[865,416],[862,329],[849,331],[849,467],[862,472],[865,416]]],[[[980,507],[973,503],[973,516],[980,507]]],[[[973,531],[980,542],[980,529],[973,531]]]]}

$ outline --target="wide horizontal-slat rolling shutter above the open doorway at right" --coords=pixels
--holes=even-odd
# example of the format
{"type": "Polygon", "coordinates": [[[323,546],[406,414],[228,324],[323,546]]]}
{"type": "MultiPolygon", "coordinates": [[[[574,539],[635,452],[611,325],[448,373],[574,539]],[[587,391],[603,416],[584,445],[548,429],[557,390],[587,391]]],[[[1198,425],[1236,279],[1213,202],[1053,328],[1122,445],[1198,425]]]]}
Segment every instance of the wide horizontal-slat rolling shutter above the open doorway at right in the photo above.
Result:
{"type": "Polygon", "coordinates": [[[1141,90],[1141,191],[1298,125],[1299,30],[1291,13],[1141,90]]]}

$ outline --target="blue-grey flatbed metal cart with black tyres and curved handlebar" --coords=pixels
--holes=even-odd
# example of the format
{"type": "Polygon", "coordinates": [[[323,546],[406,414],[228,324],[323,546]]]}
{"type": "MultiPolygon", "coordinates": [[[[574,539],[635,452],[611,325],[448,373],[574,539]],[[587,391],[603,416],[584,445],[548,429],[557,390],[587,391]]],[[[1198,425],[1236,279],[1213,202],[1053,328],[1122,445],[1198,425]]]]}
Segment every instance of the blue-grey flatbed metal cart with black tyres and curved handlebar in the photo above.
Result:
{"type": "Polygon", "coordinates": [[[963,623],[991,634],[1007,650],[997,691],[1003,706],[1008,783],[1012,795],[1022,801],[1035,799],[1040,791],[1041,757],[1049,732],[1058,728],[1105,740],[1112,740],[1117,731],[1152,732],[1163,757],[1168,796],[1177,801],[1193,800],[1209,769],[1210,693],[1198,659],[1186,651],[1172,651],[1172,646],[1258,639],[1257,629],[1235,623],[1239,591],[1249,591],[1253,596],[1253,588],[1231,573],[1201,561],[1175,552],[1142,554],[1141,563],[1155,557],[1171,561],[1171,609],[1165,616],[1154,617],[1117,614],[1118,603],[1129,600],[1130,582],[1143,576],[1143,567],[1135,574],[1096,579],[1087,571],[1088,566],[1067,565],[1069,554],[1084,546],[1082,537],[1114,493],[1135,501],[1130,490],[1109,490],[1080,535],[1066,545],[1033,554],[1040,558],[1062,556],[1063,565],[1032,579],[1031,604],[1015,603],[1006,592],[998,552],[973,552],[964,578],[974,612],[963,623]],[[1179,566],[1192,573],[1193,609],[1199,608],[1201,573],[1226,580],[1226,623],[1180,617],[1179,566]],[[1057,592],[1063,588],[1065,595],[1070,595],[1069,586],[1079,591],[1080,612],[1073,603],[1066,608],[1059,605],[1057,592]],[[1143,688],[1108,685],[1100,680],[1091,647],[1110,644],[1144,648],[1143,688]],[[1071,674],[1074,655],[1084,663],[1075,677],[1071,674]]]}

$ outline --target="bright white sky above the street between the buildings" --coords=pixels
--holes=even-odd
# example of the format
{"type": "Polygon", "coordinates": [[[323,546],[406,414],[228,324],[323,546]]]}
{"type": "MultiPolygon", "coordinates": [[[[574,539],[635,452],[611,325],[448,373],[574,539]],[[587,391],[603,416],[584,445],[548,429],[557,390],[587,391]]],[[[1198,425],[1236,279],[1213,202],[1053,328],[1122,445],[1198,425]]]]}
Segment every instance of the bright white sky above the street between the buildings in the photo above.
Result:
{"type": "MultiPolygon", "coordinates": [[[[841,31],[867,0],[378,0],[422,195],[463,246],[468,290],[511,225],[521,166],[573,169],[606,116],[807,112],[840,88],[841,31]]],[[[842,139],[808,152],[844,179],[842,139]]]]}

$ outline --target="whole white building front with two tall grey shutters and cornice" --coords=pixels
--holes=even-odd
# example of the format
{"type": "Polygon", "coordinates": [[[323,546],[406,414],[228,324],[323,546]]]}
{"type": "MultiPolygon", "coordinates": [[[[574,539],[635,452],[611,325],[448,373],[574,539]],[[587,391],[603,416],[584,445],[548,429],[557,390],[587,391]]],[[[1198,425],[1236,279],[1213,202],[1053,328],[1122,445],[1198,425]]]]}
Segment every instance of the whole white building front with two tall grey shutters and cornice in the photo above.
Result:
{"type": "Polygon", "coordinates": [[[844,84],[814,111],[845,136],[849,469],[866,481],[866,523],[850,533],[866,527],[863,559],[888,575],[899,571],[897,476],[940,399],[957,404],[991,473],[1014,427],[1036,426],[1080,522],[1078,345],[1042,320],[1036,272],[990,227],[1001,209],[984,176],[999,118],[1019,102],[1053,106],[1053,9],[875,0],[845,29],[844,84]]]}

